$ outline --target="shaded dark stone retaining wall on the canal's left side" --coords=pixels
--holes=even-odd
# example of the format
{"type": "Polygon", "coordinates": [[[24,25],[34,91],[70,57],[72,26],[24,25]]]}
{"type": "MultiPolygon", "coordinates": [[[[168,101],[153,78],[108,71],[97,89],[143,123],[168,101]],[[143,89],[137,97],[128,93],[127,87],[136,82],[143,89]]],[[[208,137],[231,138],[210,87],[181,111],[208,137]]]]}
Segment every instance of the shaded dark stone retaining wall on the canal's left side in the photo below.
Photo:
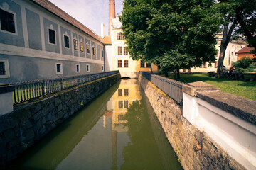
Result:
{"type": "Polygon", "coordinates": [[[106,91],[120,74],[19,104],[0,117],[0,166],[16,158],[53,128],[106,91]]]}

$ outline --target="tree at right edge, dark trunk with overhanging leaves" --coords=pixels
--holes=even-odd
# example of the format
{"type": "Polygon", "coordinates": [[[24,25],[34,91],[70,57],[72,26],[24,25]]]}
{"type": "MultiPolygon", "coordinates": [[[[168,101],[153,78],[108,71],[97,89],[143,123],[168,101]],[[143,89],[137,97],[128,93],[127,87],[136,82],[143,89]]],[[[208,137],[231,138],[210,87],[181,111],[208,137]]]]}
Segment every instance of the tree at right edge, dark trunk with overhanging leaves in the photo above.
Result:
{"type": "MultiPolygon", "coordinates": [[[[221,0],[220,14],[223,15],[223,39],[220,44],[218,60],[218,77],[223,77],[223,60],[225,50],[232,36],[245,35],[245,40],[256,49],[256,1],[255,0],[221,0]]],[[[256,54],[256,50],[254,50],[256,54]]]]}

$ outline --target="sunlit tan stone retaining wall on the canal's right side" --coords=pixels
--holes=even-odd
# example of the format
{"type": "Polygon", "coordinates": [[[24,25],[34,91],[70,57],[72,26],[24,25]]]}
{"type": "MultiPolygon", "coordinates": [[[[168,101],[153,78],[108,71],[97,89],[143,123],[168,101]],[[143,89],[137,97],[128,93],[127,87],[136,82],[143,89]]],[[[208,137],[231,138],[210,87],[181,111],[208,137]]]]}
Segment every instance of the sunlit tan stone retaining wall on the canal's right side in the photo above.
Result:
{"type": "Polygon", "coordinates": [[[245,169],[223,151],[205,132],[201,132],[182,115],[182,108],[150,81],[139,75],[154,112],[174,148],[183,169],[245,169]],[[201,150],[196,150],[196,145],[201,150]]]}

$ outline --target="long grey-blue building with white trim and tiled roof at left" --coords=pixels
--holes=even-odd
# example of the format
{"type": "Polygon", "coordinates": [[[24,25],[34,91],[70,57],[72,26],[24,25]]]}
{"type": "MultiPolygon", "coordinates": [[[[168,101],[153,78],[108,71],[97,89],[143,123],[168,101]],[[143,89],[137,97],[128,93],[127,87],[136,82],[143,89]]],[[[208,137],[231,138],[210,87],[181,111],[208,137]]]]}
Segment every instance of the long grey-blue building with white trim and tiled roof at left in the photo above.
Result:
{"type": "Polygon", "coordinates": [[[0,83],[104,71],[104,44],[48,0],[0,0],[0,83]]]}

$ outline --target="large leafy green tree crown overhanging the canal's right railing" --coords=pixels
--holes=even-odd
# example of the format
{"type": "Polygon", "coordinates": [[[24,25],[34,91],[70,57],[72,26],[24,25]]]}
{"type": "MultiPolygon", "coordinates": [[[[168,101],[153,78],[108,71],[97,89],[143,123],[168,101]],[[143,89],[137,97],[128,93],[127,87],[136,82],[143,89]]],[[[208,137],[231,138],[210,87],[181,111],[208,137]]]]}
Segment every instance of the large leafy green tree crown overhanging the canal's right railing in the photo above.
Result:
{"type": "Polygon", "coordinates": [[[215,62],[220,20],[211,0],[124,0],[122,31],[133,60],[161,72],[215,62]]]}

